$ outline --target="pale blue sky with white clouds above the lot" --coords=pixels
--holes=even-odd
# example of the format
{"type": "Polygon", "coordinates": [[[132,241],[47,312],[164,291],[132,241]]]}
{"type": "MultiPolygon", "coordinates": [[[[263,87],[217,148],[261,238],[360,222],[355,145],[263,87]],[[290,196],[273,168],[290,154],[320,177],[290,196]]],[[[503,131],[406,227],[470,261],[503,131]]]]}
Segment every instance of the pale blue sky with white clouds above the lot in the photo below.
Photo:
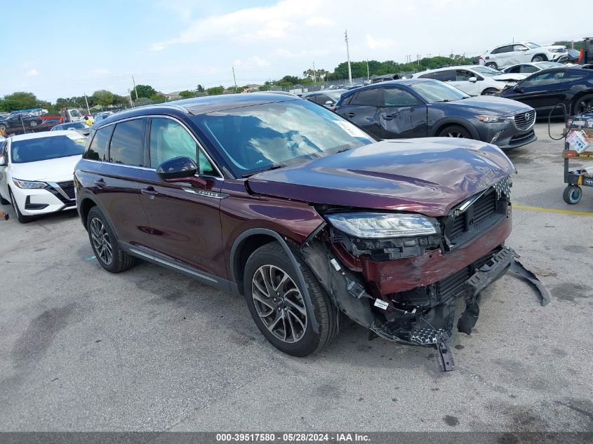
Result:
{"type": "MultiPolygon", "coordinates": [[[[585,0],[571,1],[578,11],[585,0]]],[[[552,0],[3,1],[0,95],[44,100],[148,83],[165,93],[263,83],[345,60],[479,54],[507,41],[580,39],[552,0]]]]}

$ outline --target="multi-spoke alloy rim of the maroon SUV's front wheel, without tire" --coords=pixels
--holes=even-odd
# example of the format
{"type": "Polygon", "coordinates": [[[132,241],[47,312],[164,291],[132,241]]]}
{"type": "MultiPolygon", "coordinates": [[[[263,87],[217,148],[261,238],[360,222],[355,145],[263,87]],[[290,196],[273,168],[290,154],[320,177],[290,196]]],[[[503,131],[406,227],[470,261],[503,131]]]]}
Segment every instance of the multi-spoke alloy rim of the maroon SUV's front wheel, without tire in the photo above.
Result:
{"type": "Polygon", "coordinates": [[[307,330],[305,300],[291,276],[274,265],[262,265],[251,280],[255,310],[275,337],[298,342],[307,330]]]}

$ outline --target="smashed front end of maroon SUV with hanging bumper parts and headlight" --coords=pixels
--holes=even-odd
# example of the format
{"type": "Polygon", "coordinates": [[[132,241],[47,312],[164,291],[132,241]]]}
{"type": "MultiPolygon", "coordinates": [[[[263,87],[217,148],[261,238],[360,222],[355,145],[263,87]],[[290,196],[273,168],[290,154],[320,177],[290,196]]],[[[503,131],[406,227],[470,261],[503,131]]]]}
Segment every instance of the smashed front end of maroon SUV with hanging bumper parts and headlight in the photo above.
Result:
{"type": "Polygon", "coordinates": [[[465,311],[457,328],[467,335],[478,320],[479,293],[509,270],[535,285],[542,305],[549,302],[535,275],[504,245],[512,224],[511,186],[505,177],[444,217],[403,213],[389,220],[319,208],[327,223],[300,253],[349,318],[385,339],[436,347],[444,370],[453,370],[447,342],[458,298],[465,311]]]}

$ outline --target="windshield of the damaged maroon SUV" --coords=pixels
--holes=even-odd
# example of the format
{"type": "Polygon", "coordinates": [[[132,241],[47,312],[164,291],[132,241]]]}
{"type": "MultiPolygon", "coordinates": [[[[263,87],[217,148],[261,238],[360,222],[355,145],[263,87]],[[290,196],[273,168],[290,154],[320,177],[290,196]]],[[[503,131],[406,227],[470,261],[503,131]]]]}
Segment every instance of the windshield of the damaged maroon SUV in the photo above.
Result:
{"type": "Polygon", "coordinates": [[[237,177],[375,142],[308,100],[286,100],[195,116],[237,177]]]}

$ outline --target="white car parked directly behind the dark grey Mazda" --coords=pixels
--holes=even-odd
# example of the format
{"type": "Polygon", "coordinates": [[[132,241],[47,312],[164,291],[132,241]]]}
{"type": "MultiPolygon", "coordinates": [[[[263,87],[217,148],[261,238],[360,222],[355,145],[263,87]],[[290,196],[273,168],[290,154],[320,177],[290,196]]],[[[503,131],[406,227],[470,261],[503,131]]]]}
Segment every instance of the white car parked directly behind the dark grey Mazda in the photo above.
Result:
{"type": "Polygon", "coordinates": [[[525,79],[524,74],[505,74],[475,65],[453,66],[417,72],[412,79],[437,79],[450,83],[469,95],[495,95],[508,84],[525,79]]]}

